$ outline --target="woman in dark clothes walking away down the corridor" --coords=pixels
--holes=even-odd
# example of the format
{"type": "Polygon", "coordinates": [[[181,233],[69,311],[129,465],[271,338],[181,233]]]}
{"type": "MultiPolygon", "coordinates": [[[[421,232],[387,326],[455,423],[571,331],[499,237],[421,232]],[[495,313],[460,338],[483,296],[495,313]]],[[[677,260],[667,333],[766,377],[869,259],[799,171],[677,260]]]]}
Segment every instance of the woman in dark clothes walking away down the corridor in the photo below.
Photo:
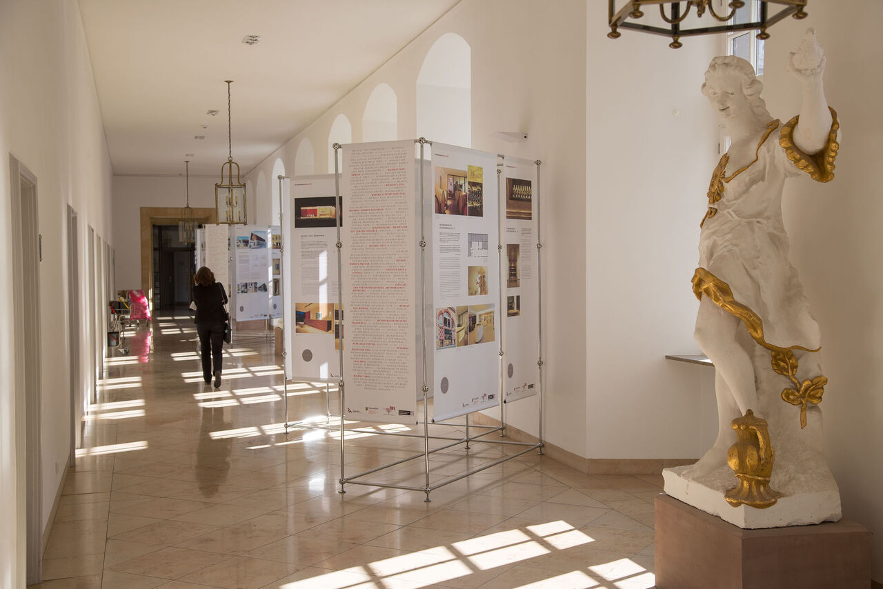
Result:
{"type": "Polygon", "coordinates": [[[202,378],[206,384],[215,375],[215,389],[221,387],[221,361],[224,322],[227,321],[227,293],[221,283],[215,282],[215,273],[203,266],[193,276],[193,304],[196,306],[196,333],[200,336],[202,378]],[[214,370],[212,360],[214,359],[214,370]]]}

